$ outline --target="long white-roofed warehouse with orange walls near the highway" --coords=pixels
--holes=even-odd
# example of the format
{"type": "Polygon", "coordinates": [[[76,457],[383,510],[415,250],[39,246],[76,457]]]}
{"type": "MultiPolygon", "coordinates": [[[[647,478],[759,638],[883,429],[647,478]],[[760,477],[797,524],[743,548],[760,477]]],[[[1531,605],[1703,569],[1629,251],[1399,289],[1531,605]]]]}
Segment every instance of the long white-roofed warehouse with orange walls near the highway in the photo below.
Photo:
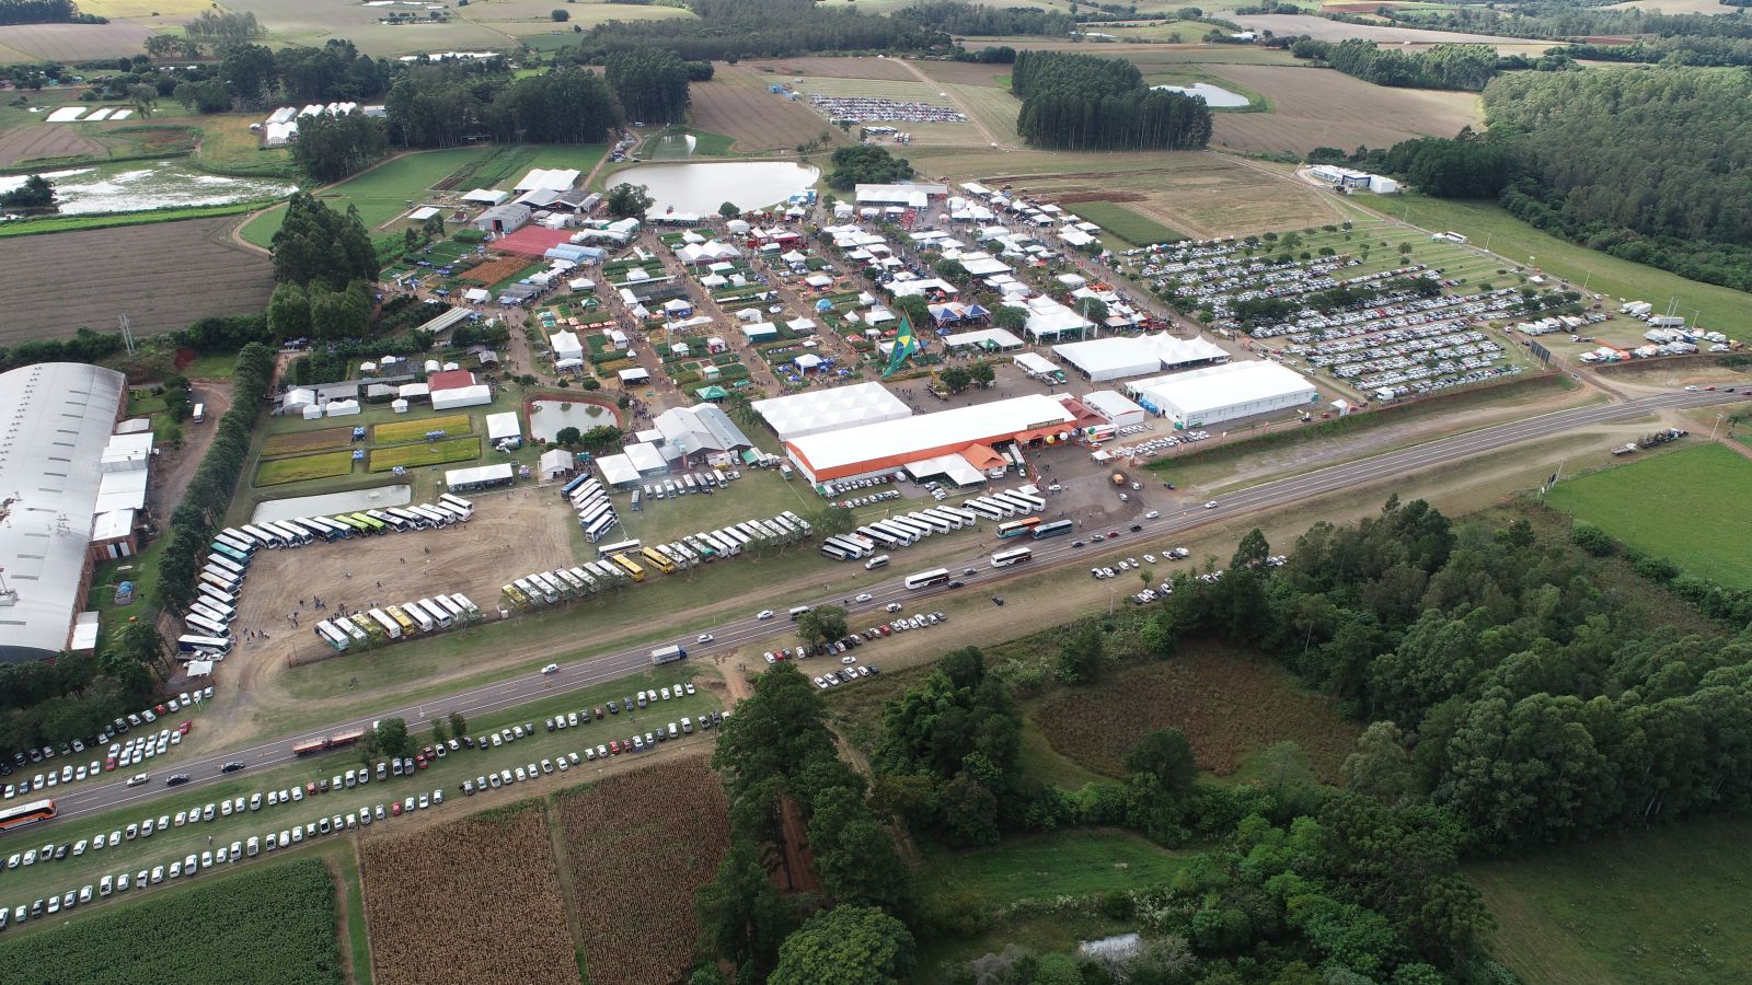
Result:
{"type": "Polygon", "coordinates": [[[957,477],[1002,461],[997,445],[1067,440],[1072,426],[1074,415],[1062,403],[1030,394],[788,438],[785,454],[809,482],[865,478],[895,470],[908,470],[915,478],[957,477]]]}

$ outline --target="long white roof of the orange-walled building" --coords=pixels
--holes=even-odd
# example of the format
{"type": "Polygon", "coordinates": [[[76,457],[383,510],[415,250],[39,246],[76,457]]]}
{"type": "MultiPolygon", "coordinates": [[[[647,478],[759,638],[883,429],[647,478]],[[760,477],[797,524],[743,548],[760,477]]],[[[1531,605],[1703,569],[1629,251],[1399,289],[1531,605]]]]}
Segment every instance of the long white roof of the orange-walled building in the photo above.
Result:
{"type": "Polygon", "coordinates": [[[1070,424],[1070,412],[1046,394],[1014,396],[843,431],[787,438],[792,459],[811,478],[839,478],[909,461],[958,452],[978,442],[1000,442],[1021,431],[1070,424]]]}

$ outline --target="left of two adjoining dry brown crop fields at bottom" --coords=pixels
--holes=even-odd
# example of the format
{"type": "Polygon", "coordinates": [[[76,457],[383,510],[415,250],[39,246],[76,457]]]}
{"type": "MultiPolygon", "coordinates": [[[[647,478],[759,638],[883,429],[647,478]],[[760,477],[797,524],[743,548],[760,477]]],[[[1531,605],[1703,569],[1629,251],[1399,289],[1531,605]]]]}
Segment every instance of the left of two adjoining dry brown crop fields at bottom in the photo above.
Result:
{"type": "MultiPolygon", "coordinates": [[[[359,862],[378,983],[578,983],[552,840],[534,801],[368,838],[359,862]]],[[[617,924],[617,932],[631,938],[636,927],[617,924]]]]}

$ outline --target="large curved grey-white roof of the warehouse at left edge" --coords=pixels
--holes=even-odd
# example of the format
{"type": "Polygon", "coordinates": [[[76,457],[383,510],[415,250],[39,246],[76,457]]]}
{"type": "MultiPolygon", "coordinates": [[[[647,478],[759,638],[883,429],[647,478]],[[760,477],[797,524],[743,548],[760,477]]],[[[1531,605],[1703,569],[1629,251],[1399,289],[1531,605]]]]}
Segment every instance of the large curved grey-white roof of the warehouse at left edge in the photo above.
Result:
{"type": "Polygon", "coordinates": [[[98,512],[100,456],[124,391],[121,373],[82,363],[0,373],[0,426],[7,429],[0,498],[12,500],[0,524],[0,568],[16,592],[12,605],[0,606],[0,661],[53,657],[84,610],[79,582],[98,512]]]}

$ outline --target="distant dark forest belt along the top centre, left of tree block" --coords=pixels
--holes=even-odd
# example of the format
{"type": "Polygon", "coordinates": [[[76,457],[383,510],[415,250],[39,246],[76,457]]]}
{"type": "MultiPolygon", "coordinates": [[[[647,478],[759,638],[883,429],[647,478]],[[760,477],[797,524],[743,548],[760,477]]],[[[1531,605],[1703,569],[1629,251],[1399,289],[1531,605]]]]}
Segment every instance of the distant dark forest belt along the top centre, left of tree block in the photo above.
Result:
{"type": "Polygon", "coordinates": [[[825,7],[813,0],[689,0],[697,21],[608,21],[583,33],[580,56],[661,47],[690,61],[738,61],[809,51],[927,51],[951,47],[943,32],[901,18],[825,7]]]}

